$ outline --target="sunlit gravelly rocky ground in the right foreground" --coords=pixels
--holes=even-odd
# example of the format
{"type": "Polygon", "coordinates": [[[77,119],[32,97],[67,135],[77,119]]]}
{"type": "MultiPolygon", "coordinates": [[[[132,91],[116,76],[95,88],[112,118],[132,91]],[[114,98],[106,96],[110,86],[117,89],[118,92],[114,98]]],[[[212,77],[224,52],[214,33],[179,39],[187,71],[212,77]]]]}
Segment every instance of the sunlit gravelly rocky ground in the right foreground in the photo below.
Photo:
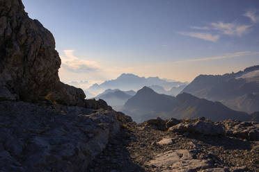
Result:
{"type": "Polygon", "coordinates": [[[127,123],[88,171],[259,171],[258,136],[253,122],[127,123]]]}

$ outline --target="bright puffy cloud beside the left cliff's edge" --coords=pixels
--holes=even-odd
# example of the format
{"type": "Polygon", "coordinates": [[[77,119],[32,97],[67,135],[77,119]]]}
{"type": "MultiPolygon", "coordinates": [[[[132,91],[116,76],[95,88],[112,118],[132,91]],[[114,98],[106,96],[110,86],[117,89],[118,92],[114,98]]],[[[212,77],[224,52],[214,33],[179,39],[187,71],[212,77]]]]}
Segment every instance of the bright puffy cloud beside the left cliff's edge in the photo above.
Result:
{"type": "Polygon", "coordinates": [[[97,71],[100,69],[97,62],[82,60],[74,56],[74,50],[64,50],[64,53],[65,57],[61,56],[61,67],[68,69],[69,71],[80,73],[97,71]]]}

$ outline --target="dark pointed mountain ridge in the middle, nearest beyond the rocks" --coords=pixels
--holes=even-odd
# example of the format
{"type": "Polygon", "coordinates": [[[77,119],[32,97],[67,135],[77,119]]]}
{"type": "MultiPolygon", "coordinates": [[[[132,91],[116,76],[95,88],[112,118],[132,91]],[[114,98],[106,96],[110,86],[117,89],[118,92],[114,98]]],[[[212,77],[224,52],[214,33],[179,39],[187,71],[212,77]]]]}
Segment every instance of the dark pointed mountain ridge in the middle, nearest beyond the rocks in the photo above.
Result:
{"type": "Polygon", "coordinates": [[[132,116],[136,122],[154,117],[164,119],[205,117],[212,121],[251,119],[249,114],[231,110],[219,102],[207,101],[187,93],[178,94],[176,97],[157,94],[148,87],[143,87],[135,96],[132,96],[123,106],[123,112],[132,116]]]}

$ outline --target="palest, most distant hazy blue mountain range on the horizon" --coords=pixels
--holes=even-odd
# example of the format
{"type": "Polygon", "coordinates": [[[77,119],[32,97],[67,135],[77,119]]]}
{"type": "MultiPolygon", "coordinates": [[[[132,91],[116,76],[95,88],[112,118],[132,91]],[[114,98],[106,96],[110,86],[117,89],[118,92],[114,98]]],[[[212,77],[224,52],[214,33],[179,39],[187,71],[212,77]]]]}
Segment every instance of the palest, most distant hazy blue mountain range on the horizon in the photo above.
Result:
{"type": "Polygon", "coordinates": [[[181,83],[177,81],[168,81],[166,79],[160,79],[158,77],[139,77],[134,74],[122,74],[115,80],[107,80],[104,83],[98,85],[94,84],[87,89],[92,94],[100,94],[106,89],[120,89],[137,91],[144,86],[159,85],[163,89],[171,89],[172,87],[178,87],[180,85],[187,85],[187,83],[181,83]]]}

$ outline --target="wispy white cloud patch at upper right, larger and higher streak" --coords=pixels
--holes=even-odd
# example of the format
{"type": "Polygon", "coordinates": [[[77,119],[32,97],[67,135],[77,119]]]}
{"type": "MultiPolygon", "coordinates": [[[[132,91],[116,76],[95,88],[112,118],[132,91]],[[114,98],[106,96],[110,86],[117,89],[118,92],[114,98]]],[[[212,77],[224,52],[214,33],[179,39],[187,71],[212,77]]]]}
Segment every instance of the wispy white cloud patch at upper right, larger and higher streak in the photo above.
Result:
{"type": "Polygon", "coordinates": [[[220,31],[222,34],[225,35],[237,35],[242,36],[244,33],[248,32],[248,29],[251,28],[251,25],[240,25],[235,23],[223,23],[217,22],[212,23],[212,29],[220,31]]]}

